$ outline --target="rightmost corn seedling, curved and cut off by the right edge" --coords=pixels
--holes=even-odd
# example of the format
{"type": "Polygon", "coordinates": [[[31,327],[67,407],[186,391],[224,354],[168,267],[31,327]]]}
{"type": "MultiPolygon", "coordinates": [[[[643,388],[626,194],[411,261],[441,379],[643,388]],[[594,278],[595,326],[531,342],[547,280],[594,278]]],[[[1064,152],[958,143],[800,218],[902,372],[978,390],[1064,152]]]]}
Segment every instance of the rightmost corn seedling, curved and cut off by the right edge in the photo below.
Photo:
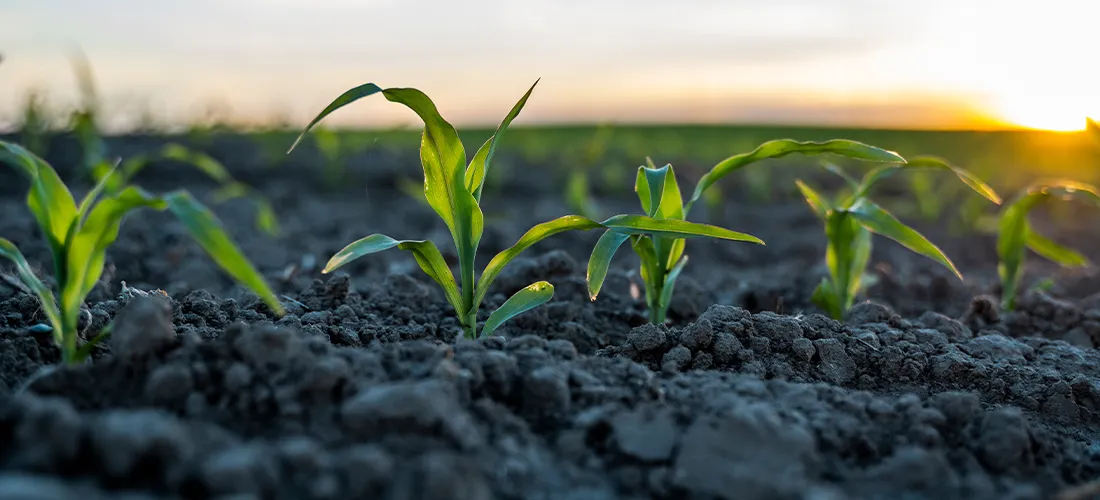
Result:
{"type": "Polygon", "coordinates": [[[1027,214],[1049,200],[1080,200],[1100,207],[1100,189],[1084,182],[1057,181],[1036,184],[1023,191],[1001,211],[997,237],[997,266],[1001,278],[1001,307],[1015,308],[1016,290],[1023,277],[1024,254],[1027,249],[1064,267],[1085,267],[1088,258],[1062,246],[1032,230],[1027,214]]]}

